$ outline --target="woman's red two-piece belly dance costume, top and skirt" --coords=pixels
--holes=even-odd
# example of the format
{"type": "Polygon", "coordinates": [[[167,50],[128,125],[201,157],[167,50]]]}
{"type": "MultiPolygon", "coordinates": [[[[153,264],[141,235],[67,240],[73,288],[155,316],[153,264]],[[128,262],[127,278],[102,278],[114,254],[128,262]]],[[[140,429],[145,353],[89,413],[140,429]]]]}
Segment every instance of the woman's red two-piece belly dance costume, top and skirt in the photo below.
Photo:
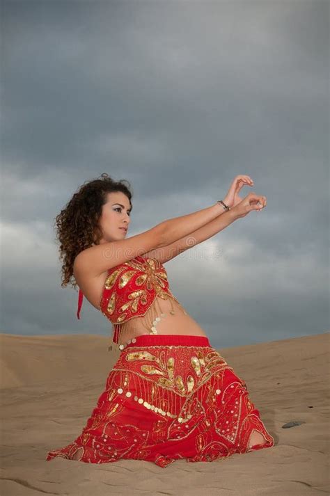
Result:
{"type": "MultiPolygon", "coordinates": [[[[137,256],[109,269],[100,311],[113,323],[113,342],[145,316],[149,334],[120,344],[97,405],[81,434],[49,451],[79,461],[109,463],[144,460],[166,467],[179,458],[214,461],[235,453],[274,446],[274,438],[249,399],[246,383],[200,335],[157,335],[166,318],[156,303],[170,298],[166,270],[157,259],[137,256]],[[253,431],[265,442],[249,448],[253,431]],[[77,459],[77,458],[75,458],[77,459]]],[[[79,307],[83,294],[79,291],[79,307]]]]}

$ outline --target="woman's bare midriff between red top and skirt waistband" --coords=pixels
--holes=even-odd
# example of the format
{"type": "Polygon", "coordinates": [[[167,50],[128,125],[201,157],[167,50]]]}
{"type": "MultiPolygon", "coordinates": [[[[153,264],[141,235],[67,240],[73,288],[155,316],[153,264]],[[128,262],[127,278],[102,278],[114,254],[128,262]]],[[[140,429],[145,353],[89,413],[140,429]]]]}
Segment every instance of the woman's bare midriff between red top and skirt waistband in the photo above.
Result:
{"type": "Polygon", "coordinates": [[[134,337],[146,334],[206,336],[201,326],[176,299],[164,300],[159,296],[145,315],[120,323],[118,344],[127,344],[134,337]]]}

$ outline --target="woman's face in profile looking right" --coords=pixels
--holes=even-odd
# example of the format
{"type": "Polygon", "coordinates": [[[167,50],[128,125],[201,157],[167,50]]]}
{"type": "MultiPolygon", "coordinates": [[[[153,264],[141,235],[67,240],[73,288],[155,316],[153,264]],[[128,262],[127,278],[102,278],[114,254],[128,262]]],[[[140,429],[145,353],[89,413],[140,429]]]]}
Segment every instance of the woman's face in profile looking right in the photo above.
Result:
{"type": "Polygon", "coordinates": [[[115,191],[107,194],[107,203],[102,207],[100,226],[103,237],[100,243],[109,243],[109,241],[118,241],[125,239],[128,225],[130,223],[129,199],[121,191],[115,191]],[[125,229],[123,229],[125,227],[125,229]]]}

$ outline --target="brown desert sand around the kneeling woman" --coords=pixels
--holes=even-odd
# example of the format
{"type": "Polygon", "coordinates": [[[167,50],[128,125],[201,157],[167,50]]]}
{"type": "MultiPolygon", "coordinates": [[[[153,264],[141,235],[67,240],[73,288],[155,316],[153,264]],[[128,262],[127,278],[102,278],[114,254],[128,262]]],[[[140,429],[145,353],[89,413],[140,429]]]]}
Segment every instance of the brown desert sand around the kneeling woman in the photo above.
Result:
{"type": "Polygon", "coordinates": [[[118,356],[109,337],[1,334],[1,496],[330,495],[330,333],[219,349],[275,446],[213,462],[55,458],[81,433],[118,356]],[[286,422],[299,426],[283,429],[286,422]]]}

